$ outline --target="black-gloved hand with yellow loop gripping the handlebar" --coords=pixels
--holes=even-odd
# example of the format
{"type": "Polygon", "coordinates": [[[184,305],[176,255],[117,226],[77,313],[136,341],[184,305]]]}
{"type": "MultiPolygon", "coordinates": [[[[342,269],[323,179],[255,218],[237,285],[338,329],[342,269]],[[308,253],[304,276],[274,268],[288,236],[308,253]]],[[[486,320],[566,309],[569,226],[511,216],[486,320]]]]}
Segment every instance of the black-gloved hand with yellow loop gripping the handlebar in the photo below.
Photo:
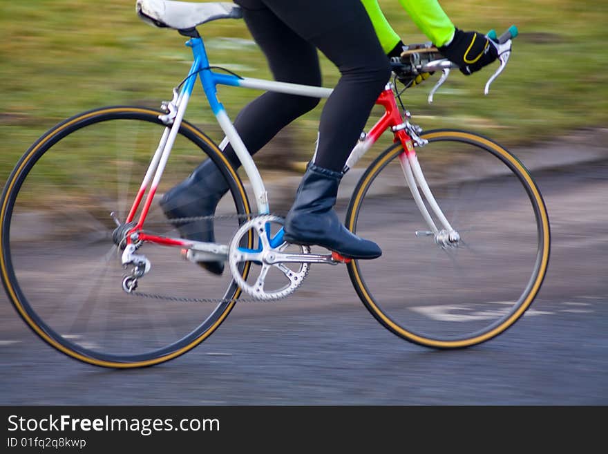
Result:
{"type": "Polygon", "coordinates": [[[463,32],[458,28],[452,41],[437,50],[457,64],[464,75],[475,73],[498,57],[496,47],[482,33],[463,32]]]}

